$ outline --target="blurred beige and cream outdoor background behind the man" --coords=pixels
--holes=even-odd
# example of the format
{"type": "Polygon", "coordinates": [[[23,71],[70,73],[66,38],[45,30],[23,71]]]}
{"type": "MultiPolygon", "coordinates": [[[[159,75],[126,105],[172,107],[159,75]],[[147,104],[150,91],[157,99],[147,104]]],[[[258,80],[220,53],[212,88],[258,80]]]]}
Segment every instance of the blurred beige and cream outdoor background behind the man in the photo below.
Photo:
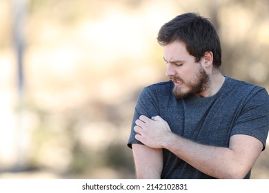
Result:
{"type": "Polygon", "coordinates": [[[214,23],[223,74],[269,90],[268,0],[0,0],[0,179],[134,179],[137,96],[166,80],[157,32],[183,12],[214,23]]]}

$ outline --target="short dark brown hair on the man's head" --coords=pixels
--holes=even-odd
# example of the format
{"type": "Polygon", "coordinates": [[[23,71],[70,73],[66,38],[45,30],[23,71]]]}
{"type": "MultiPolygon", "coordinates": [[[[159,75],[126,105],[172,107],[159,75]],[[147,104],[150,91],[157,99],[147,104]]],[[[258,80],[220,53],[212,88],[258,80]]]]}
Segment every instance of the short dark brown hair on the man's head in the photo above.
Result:
{"type": "Polygon", "coordinates": [[[201,17],[198,13],[181,14],[159,30],[157,41],[160,45],[168,45],[173,41],[185,43],[187,51],[200,61],[201,57],[211,51],[213,65],[221,65],[221,43],[210,19],[201,17]]]}

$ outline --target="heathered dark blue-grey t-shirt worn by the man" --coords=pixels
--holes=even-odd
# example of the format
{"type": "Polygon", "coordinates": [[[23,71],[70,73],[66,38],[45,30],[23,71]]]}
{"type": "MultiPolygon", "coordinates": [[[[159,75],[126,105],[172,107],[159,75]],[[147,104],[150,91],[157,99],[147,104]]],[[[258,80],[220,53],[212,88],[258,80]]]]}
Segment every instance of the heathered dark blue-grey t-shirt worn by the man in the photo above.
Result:
{"type": "MultiPolygon", "coordinates": [[[[150,85],[139,94],[128,147],[135,139],[135,120],[140,115],[161,116],[175,134],[205,145],[228,148],[230,136],[254,136],[266,147],[269,129],[269,96],[264,88],[226,77],[223,86],[210,97],[176,99],[174,84],[150,85]]],[[[250,172],[245,179],[250,178],[250,172]]],[[[168,150],[163,150],[161,179],[213,179],[168,150]]]]}

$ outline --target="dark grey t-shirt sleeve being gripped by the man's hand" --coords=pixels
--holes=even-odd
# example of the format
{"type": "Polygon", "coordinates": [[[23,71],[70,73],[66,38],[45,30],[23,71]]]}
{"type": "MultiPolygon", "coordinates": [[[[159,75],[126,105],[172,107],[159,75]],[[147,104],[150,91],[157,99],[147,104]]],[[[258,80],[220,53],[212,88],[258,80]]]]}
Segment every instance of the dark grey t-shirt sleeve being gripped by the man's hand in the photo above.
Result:
{"type": "Polygon", "coordinates": [[[159,105],[157,100],[157,94],[152,87],[143,88],[140,92],[135,106],[134,116],[132,118],[132,128],[128,139],[128,147],[132,148],[132,143],[141,144],[140,141],[135,139],[136,132],[134,130],[135,121],[139,119],[139,116],[145,115],[148,117],[159,115],[159,105]]]}

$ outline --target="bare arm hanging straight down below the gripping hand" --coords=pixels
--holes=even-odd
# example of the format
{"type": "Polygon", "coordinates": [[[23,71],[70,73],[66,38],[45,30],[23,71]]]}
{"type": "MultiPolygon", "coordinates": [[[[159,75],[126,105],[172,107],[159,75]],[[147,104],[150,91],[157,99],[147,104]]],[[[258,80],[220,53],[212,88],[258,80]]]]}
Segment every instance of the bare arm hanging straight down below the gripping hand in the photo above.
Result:
{"type": "Polygon", "coordinates": [[[163,170],[163,151],[132,143],[137,179],[160,179],[163,170]]]}

